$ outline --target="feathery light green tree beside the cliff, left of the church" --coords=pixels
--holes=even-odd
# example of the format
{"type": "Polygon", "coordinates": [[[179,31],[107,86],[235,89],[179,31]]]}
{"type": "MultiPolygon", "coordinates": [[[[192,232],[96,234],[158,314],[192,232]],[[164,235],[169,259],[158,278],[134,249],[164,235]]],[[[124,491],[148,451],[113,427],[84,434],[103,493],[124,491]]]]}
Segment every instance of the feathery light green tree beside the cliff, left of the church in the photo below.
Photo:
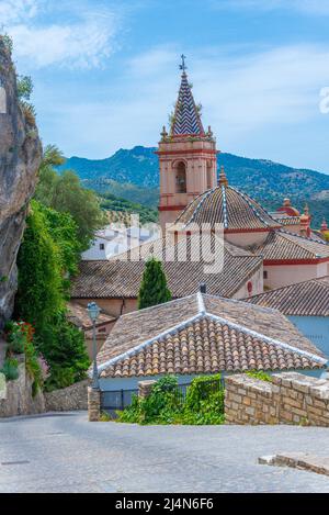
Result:
{"type": "Polygon", "coordinates": [[[65,161],[55,146],[47,146],[39,168],[39,180],[35,199],[60,213],[69,213],[78,227],[81,250],[86,250],[94,232],[106,224],[104,211],[100,208],[97,194],[82,188],[72,170],[58,175],[54,166],[65,161]]]}

